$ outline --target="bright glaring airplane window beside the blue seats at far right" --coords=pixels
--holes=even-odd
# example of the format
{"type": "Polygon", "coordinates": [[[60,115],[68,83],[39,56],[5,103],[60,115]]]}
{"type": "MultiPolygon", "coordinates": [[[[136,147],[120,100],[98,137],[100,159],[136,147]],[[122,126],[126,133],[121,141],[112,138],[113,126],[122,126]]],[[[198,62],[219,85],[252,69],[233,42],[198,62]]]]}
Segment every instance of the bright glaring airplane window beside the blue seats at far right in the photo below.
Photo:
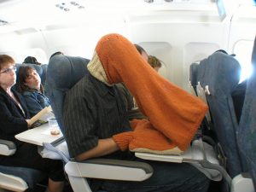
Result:
{"type": "Polygon", "coordinates": [[[241,76],[240,82],[244,79],[247,79],[252,74],[252,57],[253,51],[253,41],[241,40],[238,41],[234,46],[234,53],[236,54],[237,61],[240,62],[241,65],[241,76]]]}

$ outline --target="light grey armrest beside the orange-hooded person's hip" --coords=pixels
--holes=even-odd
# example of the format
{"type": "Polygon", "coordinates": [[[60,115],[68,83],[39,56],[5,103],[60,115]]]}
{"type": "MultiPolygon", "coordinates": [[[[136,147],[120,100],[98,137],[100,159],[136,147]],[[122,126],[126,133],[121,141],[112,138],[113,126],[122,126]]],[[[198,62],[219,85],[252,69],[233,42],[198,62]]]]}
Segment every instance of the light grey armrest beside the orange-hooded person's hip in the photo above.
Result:
{"type": "Polygon", "coordinates": [[[129,160],[92,159],[69,161],[65,166],[68,176],[124,181],[143,181],[153,174],[147,163],[129,160]]]}

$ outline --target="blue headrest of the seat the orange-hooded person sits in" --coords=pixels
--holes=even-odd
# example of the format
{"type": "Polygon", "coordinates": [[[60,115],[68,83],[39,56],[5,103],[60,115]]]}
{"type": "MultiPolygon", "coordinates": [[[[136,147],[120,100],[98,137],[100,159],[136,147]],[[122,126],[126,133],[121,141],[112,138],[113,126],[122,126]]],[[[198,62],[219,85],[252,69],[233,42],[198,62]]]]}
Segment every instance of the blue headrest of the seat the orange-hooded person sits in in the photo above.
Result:
{"type": "Polygon", "coordinates": [[[55,55],[49,60],[48,84],[58,89],[72,88],[88,73],[86,66],[89,61],[82,57],[55,55]]]}

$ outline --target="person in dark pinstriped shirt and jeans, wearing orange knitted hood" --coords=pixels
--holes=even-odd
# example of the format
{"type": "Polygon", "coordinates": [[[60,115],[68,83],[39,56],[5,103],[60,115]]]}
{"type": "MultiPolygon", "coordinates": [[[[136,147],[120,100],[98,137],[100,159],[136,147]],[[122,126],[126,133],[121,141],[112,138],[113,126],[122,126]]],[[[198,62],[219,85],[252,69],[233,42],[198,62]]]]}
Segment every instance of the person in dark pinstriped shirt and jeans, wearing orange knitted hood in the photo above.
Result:
{"type": "MultiPolygon", "coordinates": [[[[183,100],[183,97],[186,97],[184,105],[188,104],[187,101],[189,103],[193,101],[196,103],[196,107],[192,112],[184,109],[193,115],[190,115],[189,119],[183,116],[182,123],[178,124],[180,118],[171,117],[170,113],[174,114],[174,111],[166,106],[172,105],[172,101],[169,101],[170,96],[179,92],[180,89],[176,88],[177,91],[165,93],[163,93],[165,90],[161,90],[159,96],[162,97],[153,97],[155,96],[154,90],[159,91],[160,89],[160,86],[156,86],[156,84],[163,83],[166,88],[171,84],[154,73],[152,68],[148,67],[147,62],[143,61],[141,55],[137,53],[135,47],[118,34],[106,35],[98,42],[87,68],[89,73],[79,80],[71,90],[67,91],[63,102],[63,123],[69,154],[76,160],[102,157],[146,161],[154,169],[152,177],[143,182],[91,179],[90,187],[116,192],[207,192],[209,180],[194,166],[187,163],[142,160],[127,150],[129,140],[132,140],[129,134],[132,134],[133,131],[131,131],[131,125],[126,116],[122,96],[114,84],[125,82],[127,87],[131,88],[134,96],[137,96],[137,102],[150,117],[150,121],[153,120],[155,125],[166,125],[168,129],[171,127],[175,129],[177,126],[183,129],[183,126],[187,126],[187,124],[190,127],[191,120],[193,121],[192,126],[197,129],[205,114],[201,113],[202,106],[203,111],[207,111],[205,104],[189,93],[181,91],[184,96],[181,95],[182,98],[178,99],[183,100]],[[142,75],[142,72],[145,73],[142,75]],[[151,78],[152,76],[154,77],[151,78]],[[130,77],[134,77],[134,79],[130,77]],[[154,90],[151,89],[151,86],[154,86],[154,90]],[[145,89],[142,90],[142,88],[145,89]],[[148,101],[148,96],[152,101],[148,101]],[[163,97],[166,97],[164,103],[160,100],[157,102],[163,97]],[[198,110],[198,108],[201,109],[198,110]],[[200,119],[198,119],[199,116],[200,119]],[[195,121],[197,122],[194,125],[195,121]]],[[[183,111],[183,109],[181,110],[183,111]]],[[[145,119],[137,121],[147,122],[145,119]]],[[[182,133],[182,136],[186,137],[183,134],[187,134],[182,133]]],[[[179,138],[177,138],[177,142],[179,142],[179,138]]],[[[189,143],[190,141],[187,142],[188,145],[189,143]]]]}

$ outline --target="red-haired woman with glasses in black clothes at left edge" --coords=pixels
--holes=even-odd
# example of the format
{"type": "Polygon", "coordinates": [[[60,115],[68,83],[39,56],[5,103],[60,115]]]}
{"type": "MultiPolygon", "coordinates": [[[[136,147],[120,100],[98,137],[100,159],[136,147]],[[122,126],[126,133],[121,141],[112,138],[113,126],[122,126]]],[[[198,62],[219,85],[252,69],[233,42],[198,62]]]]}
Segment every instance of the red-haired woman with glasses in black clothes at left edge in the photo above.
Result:
{"type": "Polygon", "coordinates": [[[16,134],[30,127],[26,102],[13,89],[15,70],[14,59],[9,55],[0,55],[0,139],[12,141],[16,145],[15,154],[0,155],[0,165],[28,167],[45,172],[49,177],[48,191],[61,192],[65,179],[62,161],[42,158],[37,145],[15,138],[16,134]]]}

